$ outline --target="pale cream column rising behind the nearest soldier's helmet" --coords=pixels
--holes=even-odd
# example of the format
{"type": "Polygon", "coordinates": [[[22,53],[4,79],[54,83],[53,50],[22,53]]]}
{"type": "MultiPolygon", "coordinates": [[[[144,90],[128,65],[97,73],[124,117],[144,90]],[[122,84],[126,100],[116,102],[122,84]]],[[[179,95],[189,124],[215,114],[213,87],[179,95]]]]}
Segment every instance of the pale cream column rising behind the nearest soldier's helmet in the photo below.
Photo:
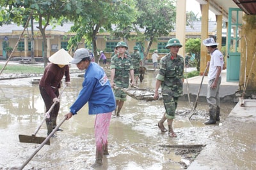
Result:
{"type": "Polygon", "coordinates": [[[179,50],[179,55],[185,59],[185,43],[186,43],[186,1],[176,1],[176,38],[179,39],[182,48],[179,50]]]}

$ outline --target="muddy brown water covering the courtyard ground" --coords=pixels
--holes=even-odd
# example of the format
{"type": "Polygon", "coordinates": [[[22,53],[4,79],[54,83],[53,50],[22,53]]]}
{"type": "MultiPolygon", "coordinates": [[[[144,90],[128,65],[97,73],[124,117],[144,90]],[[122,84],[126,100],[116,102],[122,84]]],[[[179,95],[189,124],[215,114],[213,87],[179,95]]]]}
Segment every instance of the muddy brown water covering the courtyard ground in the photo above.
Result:
{"type": "MultiPolygon", "coordinates": [[[[155,72],[148,72],[138,86],[154,89],[155,76],[155,72]]],[[[19,143],[18,138],[19,134],[33,134],[44,118],[44,101],[38,85],[31,85],[30,81],[23,78],[0,82],[0,169],[21,166],[39,146],[19,143]]],[[[72,75],[72,87],[61,96],[59,120],[79,94],[82,81],[83,78],[72,75]]],[[[168,138],[157,127],[164,113],[163,101],[145,102],[127,97],[122,117],[111,119],[110,155],[104,157],[104,165],[98,169],[180,169],[183,167],[180,162],[189,164],[182,155],[159,145],[205,144],[211,140],[212,126],[203,124],[207,107],[207,103],[198,104],[198,114],[189,121],[188,110],[192,107],[179,102],[173,125],[178,138],[168,138]]],[[[225,119],[232,107],[232,104],[221,105],[221,118],[225,119]]],[[[25,169],[91,169],[95,160],[94,118],[88,115],[86,104],[78,115],[61,125],[64,131],[57,132],[58,138],[51,139],[51,145],[44,146],[25,169]]],[[[46,137],[46,133],[44,124],[36,136],[46,137]]]]}

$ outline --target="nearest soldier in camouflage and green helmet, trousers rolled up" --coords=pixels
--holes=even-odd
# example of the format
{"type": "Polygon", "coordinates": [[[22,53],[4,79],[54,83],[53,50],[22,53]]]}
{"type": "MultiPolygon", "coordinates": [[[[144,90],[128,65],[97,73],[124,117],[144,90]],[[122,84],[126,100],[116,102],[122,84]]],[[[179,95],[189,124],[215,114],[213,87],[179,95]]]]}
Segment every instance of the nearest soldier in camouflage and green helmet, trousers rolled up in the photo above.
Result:
{"type": "Polygon", "coordinates": [[[177,135],[173,131],[172,123],[175,118],[175,110],[177,108],[178,99],[182,96],[184,59],[178,55],[179,48],[182,47],[179,39],[170,39],[166,48],[170,49],[170,53],[160,60],[159,73],[156,76],[156,91],[154,99],[158,98],[158,89],[161,85],[164,108],[163,118],[158,122],[158,127],[162,132],[166,132],[163,123],[167,119],[168,136],[176,138],[177,135]]]}

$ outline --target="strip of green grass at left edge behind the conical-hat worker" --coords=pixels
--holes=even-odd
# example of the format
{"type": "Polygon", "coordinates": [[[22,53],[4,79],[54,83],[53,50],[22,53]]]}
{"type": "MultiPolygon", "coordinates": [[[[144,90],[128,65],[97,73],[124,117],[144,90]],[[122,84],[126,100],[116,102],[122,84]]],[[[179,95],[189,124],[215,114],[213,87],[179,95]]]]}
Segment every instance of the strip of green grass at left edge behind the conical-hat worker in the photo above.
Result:
{"type": "MultiPolygon", "coordinates": [[[[0,70],[2,70],[4,65],[0,65],[0,70]]],[[[4,68],[3,73],[44,73],[44,67],[39,66],[29,66],[29,65],[7,65],[4,68]]]]}

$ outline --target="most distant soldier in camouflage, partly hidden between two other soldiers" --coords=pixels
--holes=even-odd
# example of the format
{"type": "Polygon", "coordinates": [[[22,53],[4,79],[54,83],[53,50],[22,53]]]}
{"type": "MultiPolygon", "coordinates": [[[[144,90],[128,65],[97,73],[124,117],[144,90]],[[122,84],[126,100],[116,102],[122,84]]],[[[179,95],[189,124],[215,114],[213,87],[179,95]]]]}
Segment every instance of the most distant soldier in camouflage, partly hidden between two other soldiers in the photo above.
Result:
{"type": "Polygon", "coordinates": [[[138,51],[139,50],[138,46],[134,46],[133,50],[134,50],[134,52],[131,54],[132,66],[133,66],[133,69],[134,69],[135,82],[137,84],[138,79],[139,79],[139,75],[140,75],[139,70],[140,70],[141,58],[140,58],[140,52],[138,51]]]}

